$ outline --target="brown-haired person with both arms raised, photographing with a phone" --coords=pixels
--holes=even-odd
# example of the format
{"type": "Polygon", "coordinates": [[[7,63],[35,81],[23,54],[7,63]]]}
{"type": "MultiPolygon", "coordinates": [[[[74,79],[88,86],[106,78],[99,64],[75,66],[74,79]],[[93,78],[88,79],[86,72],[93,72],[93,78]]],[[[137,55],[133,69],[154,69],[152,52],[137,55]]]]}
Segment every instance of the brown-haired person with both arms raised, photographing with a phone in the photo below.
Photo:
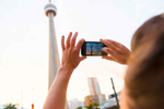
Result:
{"type": "MultiPolygon", "coordinates": [[[[43,109],[65,109],[67,86],[73,70],[86,59],[80,57],[85,41],[79,40],[78,33],[69,34],[65,44],[61,38],[61,66],[49,89],[43,109]]],[[[137,29],[131,40],[131,51],[112,39],[101,39],[108,56],[103,59],[127,64],[125,85],[121,90],[120,109],[164,109],[164,14],[147,21],[137,29]]]]}

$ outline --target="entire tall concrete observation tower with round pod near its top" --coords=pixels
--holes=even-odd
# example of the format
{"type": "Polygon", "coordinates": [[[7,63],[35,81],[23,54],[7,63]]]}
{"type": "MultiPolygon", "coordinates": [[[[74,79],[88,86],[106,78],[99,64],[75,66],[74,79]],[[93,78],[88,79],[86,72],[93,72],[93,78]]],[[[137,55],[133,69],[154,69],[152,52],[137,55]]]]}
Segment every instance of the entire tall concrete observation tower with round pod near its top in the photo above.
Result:
{"type": "MultiPolygon", "coordinates": [[[[57,75],[57,71],[60,66],[54,25],[54,17],[57,15],[57,8],[55,4],[51,3],[51,0],[49,0],[49,3],[45,5],[45,14],[47,17],[49,17],[49,73],[48,73],[48,89],[49,89],[57,75]]],[[[69,109],[67,101],[65,109],[69,109]]]]}

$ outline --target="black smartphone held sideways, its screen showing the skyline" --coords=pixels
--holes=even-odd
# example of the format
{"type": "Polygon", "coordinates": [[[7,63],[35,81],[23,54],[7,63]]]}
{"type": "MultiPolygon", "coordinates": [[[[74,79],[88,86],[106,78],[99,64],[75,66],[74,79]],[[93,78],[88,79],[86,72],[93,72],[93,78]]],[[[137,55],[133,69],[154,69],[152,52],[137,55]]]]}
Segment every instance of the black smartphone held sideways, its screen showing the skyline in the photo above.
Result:
{"type": "Polygon", "coordinates": [[[107,53],[103,51],[103,47],[106,46],[99,41],[85,41],[81,47],[81,55],[82,56],[107,56],[107,53]]]}

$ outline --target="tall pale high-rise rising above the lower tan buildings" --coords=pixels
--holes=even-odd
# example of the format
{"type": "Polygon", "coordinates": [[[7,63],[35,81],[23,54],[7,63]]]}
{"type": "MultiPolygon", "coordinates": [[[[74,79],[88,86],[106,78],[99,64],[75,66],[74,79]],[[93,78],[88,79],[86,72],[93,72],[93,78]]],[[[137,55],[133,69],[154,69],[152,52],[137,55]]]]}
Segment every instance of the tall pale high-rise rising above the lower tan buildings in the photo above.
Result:
{"type": "Polygon", "coordinates": [[[91,95],[101,94],[99,84],[96,77],[89,77],[87,84],[89,84],[89,89],[91,95]]]}

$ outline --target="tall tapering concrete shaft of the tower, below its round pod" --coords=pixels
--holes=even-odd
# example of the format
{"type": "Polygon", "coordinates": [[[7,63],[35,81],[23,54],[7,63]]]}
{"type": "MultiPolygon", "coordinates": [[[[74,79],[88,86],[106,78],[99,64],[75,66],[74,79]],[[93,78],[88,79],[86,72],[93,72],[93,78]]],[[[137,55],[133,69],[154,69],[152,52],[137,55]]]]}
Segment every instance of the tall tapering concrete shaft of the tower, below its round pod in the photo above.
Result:
{"type": "Polygon", "coordinates": [[[55,76],[57,75],[57,70],[60,66],[59,53],[57,47],[57,39],[54,26],[54,13],[49,12],[49,82],[48,89],[50,88],[55,76]]]}

